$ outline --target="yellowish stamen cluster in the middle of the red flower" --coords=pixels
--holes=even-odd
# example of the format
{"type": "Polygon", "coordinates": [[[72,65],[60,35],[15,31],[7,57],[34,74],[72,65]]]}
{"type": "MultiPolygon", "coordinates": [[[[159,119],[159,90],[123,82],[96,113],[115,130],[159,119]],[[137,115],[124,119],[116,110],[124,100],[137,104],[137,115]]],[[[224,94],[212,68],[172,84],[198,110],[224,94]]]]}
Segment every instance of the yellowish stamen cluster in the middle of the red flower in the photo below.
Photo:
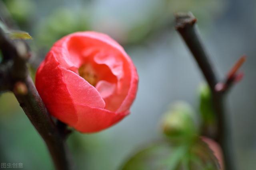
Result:
{"type": "Polygon", "coordinates": [[[98,76],[91,64],[83,64],[78,68],[79,75],[84,78],[92,86],[96,86],[98,82],[98,76]]]}

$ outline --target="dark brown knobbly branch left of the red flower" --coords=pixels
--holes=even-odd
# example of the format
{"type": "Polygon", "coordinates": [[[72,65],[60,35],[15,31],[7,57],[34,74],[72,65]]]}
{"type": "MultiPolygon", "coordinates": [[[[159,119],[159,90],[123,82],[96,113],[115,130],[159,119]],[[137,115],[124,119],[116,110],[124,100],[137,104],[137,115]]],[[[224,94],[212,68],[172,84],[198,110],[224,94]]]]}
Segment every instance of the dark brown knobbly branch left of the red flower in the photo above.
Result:
{"type": "Polygon", "coordinates": [[[14,92],[20,106],[44,139],[56,170],[72,169],[62,132],[52,121],[28,74],[28,46],[20,40],[11,41],[0,30],[0,49],[4,57],[0,63],[0,92],[14,92]]]}

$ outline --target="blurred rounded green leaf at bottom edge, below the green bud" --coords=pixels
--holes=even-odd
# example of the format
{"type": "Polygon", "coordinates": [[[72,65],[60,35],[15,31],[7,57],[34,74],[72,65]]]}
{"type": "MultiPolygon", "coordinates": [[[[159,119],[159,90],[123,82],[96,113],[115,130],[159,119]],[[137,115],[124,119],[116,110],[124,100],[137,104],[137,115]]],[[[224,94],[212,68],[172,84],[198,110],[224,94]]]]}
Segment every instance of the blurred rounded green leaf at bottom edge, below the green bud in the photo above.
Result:
{"type": "Polygon", "coordinates": [[[153,143],[123,164],[121,170],[219,170],[212,150],[201,139],[192,144],[153,143]]]}

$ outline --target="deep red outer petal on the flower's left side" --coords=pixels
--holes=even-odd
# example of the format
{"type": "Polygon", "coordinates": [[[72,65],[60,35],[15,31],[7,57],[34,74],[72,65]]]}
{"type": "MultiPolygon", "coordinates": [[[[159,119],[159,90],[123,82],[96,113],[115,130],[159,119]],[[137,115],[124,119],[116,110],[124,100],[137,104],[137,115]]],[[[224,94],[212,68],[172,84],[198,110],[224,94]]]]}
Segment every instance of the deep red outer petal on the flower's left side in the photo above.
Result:
{"type": "Polygon", "coordinates": [[[64,83],[60,64],[52,53],[48,53],[46,60],[38,68],[36,88],[48,111],[54,117],[69,124],[76,123],[74,102],[64,83]]]}

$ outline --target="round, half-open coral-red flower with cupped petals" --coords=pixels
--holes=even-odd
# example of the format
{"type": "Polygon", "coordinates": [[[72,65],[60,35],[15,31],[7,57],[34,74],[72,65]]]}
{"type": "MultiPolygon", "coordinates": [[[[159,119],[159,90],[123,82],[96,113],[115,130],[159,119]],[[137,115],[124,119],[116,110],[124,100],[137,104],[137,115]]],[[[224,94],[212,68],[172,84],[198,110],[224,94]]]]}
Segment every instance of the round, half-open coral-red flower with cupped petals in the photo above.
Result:
{"type": "Polygon", "coordinates": [[[137,85],[136,68],[124,49],[96,32],[63,37],[36,72],[36,88],[49,112],[84,133],[128,115],[137,85]]]}

